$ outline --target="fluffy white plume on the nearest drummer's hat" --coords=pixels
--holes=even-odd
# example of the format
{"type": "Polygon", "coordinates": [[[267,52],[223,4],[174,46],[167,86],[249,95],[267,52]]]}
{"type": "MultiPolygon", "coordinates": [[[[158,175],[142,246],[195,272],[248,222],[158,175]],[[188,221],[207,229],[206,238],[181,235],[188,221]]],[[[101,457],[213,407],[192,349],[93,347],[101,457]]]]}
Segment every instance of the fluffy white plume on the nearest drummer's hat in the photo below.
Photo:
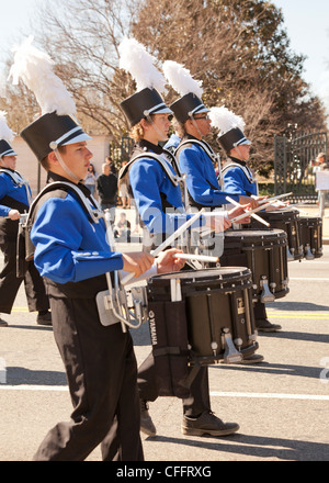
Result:
{"type": "Polygon", "coordinates": [[[63,81],[54,74],[55,63],[48,54],[32,46],[32,42],[33,36],[30,36],[21,46],[13,49],[14,64],[9,77],[12,77],[14,85],[22,79],[34,92],[43,115],[56,111],[58,115],[75,116],[76,104],[63,81]]]}

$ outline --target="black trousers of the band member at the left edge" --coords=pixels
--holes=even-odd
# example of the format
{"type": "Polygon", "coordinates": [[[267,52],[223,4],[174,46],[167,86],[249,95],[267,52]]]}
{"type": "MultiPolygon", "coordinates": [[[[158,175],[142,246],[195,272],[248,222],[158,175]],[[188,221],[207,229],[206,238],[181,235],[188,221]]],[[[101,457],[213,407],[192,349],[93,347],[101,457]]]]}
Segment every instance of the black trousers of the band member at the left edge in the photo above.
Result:
{"type": "Polygon", "coordinates": [[[24,282],[29,311],[47,311],[48,296],[34,262],[27,263],[24,278],[16,277],[16,238],[0,237],[0,249],[4,255],[4,265],[0,272],[0,313],[11,313],[22,282],[24,282]]]}

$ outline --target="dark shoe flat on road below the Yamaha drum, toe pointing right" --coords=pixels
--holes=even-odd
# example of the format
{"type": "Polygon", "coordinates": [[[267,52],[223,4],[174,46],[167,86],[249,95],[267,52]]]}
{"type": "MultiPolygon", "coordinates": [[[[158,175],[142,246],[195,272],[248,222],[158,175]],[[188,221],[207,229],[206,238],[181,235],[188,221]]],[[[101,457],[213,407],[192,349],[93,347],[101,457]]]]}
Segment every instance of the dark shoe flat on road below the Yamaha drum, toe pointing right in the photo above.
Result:
{"type": "Polygon", "coordinates": [[[224,423],[213,412],[205,411],[197,418],[184,416],[182,434],[186,436],[228,436],[240,429],[236,423],[224,423]]]}

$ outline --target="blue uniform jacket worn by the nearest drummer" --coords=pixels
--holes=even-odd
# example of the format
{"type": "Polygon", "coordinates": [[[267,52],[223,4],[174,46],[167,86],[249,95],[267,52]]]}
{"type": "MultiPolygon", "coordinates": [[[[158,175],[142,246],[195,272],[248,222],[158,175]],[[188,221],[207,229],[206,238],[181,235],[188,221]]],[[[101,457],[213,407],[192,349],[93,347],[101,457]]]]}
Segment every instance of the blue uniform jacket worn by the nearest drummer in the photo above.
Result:
{"type": "Polygon", "coordinates": [[[79,282],[123,268],[122,255],[111,251],[106,242],[103,220],[91,223],[71,192],[42,204],[31,239],[37,270],[57,283],[79,282]]]}

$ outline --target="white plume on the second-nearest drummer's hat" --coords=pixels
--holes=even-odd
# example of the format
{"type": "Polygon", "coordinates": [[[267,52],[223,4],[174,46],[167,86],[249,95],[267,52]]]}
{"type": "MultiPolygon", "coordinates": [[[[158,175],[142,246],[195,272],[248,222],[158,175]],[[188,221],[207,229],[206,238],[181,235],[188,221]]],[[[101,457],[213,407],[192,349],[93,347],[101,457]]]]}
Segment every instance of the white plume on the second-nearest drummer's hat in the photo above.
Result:
{"type": "Polygon", "coordinates": [[[164,76],[155,66],[156,57],[150,55],[144,45],[135,38],[125,37],[118,46],[120,68],[129,72],[137,83],[137,92],[145,89],[156,89],[166,92],[164,76]]]}

